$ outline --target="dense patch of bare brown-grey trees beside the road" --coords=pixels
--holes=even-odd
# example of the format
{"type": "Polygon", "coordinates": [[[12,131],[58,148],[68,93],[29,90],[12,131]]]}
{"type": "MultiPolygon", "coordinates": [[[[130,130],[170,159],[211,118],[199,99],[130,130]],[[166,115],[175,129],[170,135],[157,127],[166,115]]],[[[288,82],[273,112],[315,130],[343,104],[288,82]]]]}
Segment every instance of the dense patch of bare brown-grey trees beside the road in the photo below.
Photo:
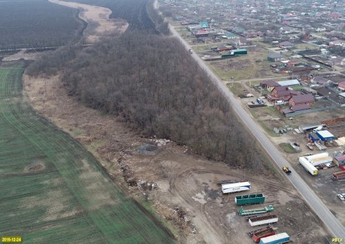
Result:
{"type": "MultiPolygon", "coordinates": [[[[129,32],[66,55],[56,56],[74,57],[62,69],[63,83],[87,106],[117,114],[148,136],[188,145],[208,159],[261,165],[253,137],[177,39],[129,32]]],[[[44,60],[30,73],[54,63],[44,60]]]]}

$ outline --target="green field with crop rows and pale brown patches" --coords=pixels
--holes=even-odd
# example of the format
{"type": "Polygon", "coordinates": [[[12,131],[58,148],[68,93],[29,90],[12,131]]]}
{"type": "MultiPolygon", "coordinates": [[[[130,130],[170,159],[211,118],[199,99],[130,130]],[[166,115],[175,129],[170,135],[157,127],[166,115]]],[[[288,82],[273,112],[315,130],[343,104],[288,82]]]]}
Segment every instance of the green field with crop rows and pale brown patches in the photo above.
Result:
{"type": "Polygon", "coordinates": [[[23,243],[172,243],[95,158],[23,99],[0,68],[0,235],[23,243]]]}

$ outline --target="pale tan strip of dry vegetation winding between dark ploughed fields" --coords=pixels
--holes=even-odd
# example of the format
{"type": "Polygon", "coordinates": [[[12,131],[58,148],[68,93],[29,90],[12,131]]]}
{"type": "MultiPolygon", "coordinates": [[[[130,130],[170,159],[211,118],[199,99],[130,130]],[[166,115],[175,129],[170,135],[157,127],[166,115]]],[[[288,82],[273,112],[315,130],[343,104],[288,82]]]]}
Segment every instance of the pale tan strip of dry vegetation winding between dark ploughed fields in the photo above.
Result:
{"type": "Polygon", "coordinates": [[[112,14],[112,11],[108,8],[71,1],[49,1],[61,6],[77,8],[80,10],[79,18],[88,23],[88,26],[84,31],[84,37],[88,43],[95,43],[99,40],[99,37],[115,32],[115,30],[124,32],[128,27],[128,23],[124,20],[120,21],[119,19],[110,19],[109,17],[110,14],[112,14]]]}

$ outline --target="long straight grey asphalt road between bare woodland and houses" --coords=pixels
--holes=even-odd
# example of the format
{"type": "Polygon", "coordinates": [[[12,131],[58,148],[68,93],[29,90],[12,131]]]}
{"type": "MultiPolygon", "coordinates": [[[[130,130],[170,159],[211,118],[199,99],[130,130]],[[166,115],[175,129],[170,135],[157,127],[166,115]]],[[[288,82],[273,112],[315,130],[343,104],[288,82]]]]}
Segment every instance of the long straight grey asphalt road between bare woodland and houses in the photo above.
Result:
{"type": "MultiPolygon", "coordinates": [[[[188,50],[190,47],[184,39],[182,39],[179,34],[175,31],[174,28],[170,28],[172,34],[174,34],[177,39],[184,44],[186,49],[188,50]]],[[[186,52],[187,52],[186,50],[186,52]]],[[[221,83],[221,81],[213,74],[213,72],[208,68],[208,66],[204,63],[200,57],[197,56],[193,52],[191,56],[199,63],[200,67],[208,74],[210,80],[217,86],[220,92],[224,95],[228,103],[230,103],[233,110],[242,119],[242,122],[248,127],[250,132],[253,133],[257,141],[262,145],[262,147],[266,150],[266,152],[270,155],[271,159],[275,161],[279,168],[282,168],[284,165],[292,168],[290,163],[280,152],[275,148],[275,145],[270,142],[267,136],[262,132],[262,129],[255,123],[255,121],[247,114],[246,110],[242,108],[242,106],[237,103],[235,96],[231,93],[226,86],[221,83]]],[[[306,203],[311,206],[311,209],[319,216],[319,218],[324,222],[324,225],[328,228],[329,232],[333,234],[333,238],[345,238],[345,228],[340,223],[337,218],[331,213],[330,210],[326,207],[326,205],[319,199],[319,197],[311,190],[306,182],[299,176],[299,174],[293,172],[292,174],[287,176],[290,182],[295,186],[295,188],[299,191],[299,193],[304,197],[306,203]]]]}

